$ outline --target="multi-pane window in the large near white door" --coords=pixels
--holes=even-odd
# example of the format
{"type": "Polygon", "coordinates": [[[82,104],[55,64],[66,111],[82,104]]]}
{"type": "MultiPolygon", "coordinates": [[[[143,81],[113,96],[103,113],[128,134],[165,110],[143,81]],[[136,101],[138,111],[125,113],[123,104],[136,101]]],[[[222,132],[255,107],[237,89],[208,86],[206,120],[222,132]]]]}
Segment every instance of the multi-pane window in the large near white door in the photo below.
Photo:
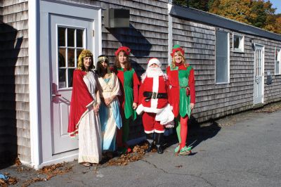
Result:
{"type": "Polygon", "coordinates": [[[72,87],[73,71],[84,49],[84,29],[58,27],[58,87],[72,87]]]}

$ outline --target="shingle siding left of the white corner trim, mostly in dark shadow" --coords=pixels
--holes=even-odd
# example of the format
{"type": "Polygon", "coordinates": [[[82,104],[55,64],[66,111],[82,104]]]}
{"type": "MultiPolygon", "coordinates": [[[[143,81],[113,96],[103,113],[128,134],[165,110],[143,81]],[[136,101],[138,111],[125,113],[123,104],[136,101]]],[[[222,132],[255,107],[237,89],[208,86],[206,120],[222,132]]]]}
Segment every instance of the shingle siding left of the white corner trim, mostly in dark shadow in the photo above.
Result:
{"type": "MultiPolygon", "coordinates": [[[[30,162],[28,1],[3,0],[0,30],[0,155],[30,162]],[[4,138],[5,137],[5,138],[4,138]]],[[[0,4],[1,4],[0,3],[0,4]]],[[[1,162],[2,160],[0,160],[1,162]]]]}

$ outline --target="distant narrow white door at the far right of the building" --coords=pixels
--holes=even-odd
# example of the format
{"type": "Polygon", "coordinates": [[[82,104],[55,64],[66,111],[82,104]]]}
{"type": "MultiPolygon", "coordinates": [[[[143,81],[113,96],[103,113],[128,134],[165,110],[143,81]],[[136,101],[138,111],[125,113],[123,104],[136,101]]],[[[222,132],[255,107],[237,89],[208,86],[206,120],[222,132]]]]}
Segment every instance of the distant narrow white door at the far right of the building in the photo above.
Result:
{"type": "Polygon", "coordinates": [[[257,105],[263,103],[263,46],[255,45],[254,57],[254,105],[257,105]]]}

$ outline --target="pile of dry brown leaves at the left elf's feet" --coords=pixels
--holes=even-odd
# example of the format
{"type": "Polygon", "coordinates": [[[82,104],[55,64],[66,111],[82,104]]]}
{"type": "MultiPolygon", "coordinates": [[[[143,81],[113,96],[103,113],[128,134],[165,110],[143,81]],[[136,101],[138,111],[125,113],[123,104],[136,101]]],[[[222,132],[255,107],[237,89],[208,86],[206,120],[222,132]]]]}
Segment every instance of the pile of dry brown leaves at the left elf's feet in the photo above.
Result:
{"type": "Polygon", "coordinates": [[[136,145],[133,147],[133,152],[129,154],[123,154],[120,157],[112,158],[107,162],[107,165],[128,165],[129,162],[135,162],[141,160],[145,155],[145,150],[148,148],[148,144],[136,145]]]}

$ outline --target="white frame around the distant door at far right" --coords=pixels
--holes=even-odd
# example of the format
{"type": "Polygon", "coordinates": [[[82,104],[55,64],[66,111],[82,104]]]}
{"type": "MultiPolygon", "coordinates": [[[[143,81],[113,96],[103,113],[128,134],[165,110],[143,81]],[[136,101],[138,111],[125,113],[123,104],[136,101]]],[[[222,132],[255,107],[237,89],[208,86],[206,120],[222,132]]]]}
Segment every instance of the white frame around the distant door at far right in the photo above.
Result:
{"type": "Polygon", "coordinates": [[[264,101],[264,56],[265,56],[264,45],[254,43],[254,105],[263,104],[264,101]],[[262,51],[262,60],[261,60],[261,103],[255,103],[255,79],[256,79],[256,47],[260,47],[262,51]]]}

